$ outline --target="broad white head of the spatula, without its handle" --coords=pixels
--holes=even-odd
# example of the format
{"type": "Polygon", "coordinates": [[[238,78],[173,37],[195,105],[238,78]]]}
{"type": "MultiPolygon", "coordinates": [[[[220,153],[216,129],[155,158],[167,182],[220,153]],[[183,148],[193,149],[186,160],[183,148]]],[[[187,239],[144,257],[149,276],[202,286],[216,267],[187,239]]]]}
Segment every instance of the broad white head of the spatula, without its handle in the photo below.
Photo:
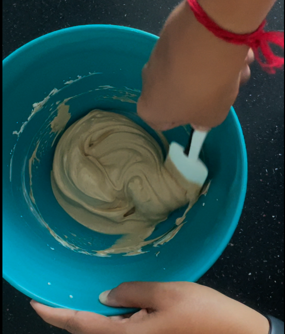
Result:
{"type": "Polygon", "coordinates": [[[169,147],[167,159],[170,159],[179,173],[189,182],[203,186],[208,176],[208,168],[202,160],[190,159],[184,153],[184,147],[173,142],[169,147]]]}

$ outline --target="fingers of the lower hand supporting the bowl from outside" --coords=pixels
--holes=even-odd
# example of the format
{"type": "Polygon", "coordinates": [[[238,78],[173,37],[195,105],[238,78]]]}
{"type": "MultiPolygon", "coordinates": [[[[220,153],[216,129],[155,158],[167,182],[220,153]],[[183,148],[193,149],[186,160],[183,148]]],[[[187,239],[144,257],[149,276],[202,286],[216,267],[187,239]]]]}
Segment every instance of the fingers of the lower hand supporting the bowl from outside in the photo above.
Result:
{"type": "Polygon", "coordinates": [[[31,302],[33,309],[47,323],[72,334],[122,334],[124,323],[91,313],[59,309],[31,302]]]}

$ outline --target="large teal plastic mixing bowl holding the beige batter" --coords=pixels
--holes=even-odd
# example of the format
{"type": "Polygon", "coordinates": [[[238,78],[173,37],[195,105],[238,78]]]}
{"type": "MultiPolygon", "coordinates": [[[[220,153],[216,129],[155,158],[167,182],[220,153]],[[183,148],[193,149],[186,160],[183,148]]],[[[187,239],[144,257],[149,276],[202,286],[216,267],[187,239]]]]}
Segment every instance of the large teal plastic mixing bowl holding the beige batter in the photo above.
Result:
{"type": "MultiPolygon", "coordinates": [[[[118,236],[83,227],[53,196],[50,171],[62,132],[51,130],[50,123],[63,102],[71,113],[67,126],[92,109],[112,110],[138,121],[159,141],[136,116],[141,70],[157,40],[130,28],[81,26],[38,38],[3,61],[3,277],[41,303],[122,313],[101,305],[99,293],[125,281],[196,281],[237,227],[247,158],[233,109],[206,139],[208,193],[168,243],[149,245],[134,257],[97,257],[94,249],[107,248],[118,236]]],[[[189,128],[165,136],[186,145],[189,128]]],[[[184,211],[159,224],[153,236],[172,229],[184,211]]]]}

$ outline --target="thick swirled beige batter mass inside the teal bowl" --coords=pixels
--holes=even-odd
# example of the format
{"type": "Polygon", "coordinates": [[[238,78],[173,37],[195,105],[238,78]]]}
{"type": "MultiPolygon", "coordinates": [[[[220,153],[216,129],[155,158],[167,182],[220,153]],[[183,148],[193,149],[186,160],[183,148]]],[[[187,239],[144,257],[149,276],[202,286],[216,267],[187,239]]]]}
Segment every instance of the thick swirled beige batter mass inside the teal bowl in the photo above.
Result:
{"type": "Polygon", "coordinates": [[[59,204],[76,221],[100,233],[123,235],[99,251],[108,255],[139,251],[158,223],[197,200],[200,188],[174,174],[142,127],[94,110],[63,134],[51,179],[59,204]]]}

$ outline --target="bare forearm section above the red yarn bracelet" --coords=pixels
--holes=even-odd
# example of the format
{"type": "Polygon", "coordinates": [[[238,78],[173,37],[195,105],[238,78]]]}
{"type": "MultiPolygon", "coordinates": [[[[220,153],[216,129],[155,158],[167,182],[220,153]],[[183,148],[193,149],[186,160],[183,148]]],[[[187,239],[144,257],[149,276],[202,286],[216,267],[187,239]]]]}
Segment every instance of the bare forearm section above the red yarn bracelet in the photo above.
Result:
{"type": "Polygon", "coordinates": [[[276,0],[198,0],[222,28],[236,33],[256,30],[276,0]]]}

